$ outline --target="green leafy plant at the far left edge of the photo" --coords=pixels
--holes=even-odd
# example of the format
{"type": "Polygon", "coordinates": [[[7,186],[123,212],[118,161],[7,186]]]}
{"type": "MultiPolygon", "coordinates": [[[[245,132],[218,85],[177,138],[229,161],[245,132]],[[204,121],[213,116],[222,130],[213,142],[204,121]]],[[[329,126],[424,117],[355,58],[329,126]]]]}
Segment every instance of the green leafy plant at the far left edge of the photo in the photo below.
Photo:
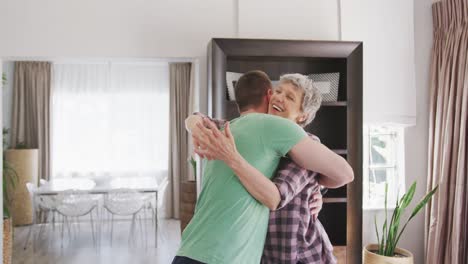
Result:
{"type": "MultiPolygon", "coordinates": [[[[8,135],[8,129],[3,128],[3,150],[8,147],[6,143],[6,136],[8,135]]],[[[10,205],[12,202],[11,192],[16,188],[18,184],[18,174],[16,173],[13,166],[5,160],[3,155],[3,217],[8,218],[10,214],[10,205]]]]}

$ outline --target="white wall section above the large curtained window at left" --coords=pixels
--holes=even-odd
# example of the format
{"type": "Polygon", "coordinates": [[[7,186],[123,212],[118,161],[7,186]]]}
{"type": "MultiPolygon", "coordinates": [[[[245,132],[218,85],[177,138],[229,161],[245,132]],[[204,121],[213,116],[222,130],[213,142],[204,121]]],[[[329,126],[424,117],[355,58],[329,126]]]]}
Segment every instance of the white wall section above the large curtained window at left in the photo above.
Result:
{"type": "Polygon", "coordinates": [[[233,1],[2,1],[1,55],[191,57],[233,35],[233,1]],[[216,10],[216,12],[212,12],[216,10]]]}

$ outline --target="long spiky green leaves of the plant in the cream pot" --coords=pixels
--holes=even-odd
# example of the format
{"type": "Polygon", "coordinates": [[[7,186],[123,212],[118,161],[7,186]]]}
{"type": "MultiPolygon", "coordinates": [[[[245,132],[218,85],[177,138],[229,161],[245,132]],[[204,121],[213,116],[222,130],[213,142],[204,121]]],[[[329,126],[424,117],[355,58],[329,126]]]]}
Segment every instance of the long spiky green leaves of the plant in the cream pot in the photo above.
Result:
{"type": "Polygon", "coordinates": [[[375,232],[377,234],[377,243],[379,246],[376,252],[377,254],[388,256],[388,257],[393,257],[395,255],[395,249],[398,245],[398,241],[400,240],[400,237],[403,234],[403,231],[405,231],[406,226],[408,225],[409,221],[411,221],[411,219],[413,219],[416,216],[416,214],[418,214],[418,212],[421,211],[421,209],[427,204],[427,202],[429,202],[429,200],[432,198],[434,193],[437,191],[437,188],[439,188],[439,186],[436,186],[432,191],[427,193],[426,196],[424,196],[424,198],[421,199],[421,201],[419,201],[416,207],[414,207],[413,212],[411,213],[411,216],[408,218],[403,228],[399,231],[401,216],[404,214],[406,208],[413,200],[414,193],[416,191],[416,182],[413,182],[408,192],[406,192],[401,197],[401,199],[398,199],[398,195],[397,195],[396,206],[395,206],[395,210],[393,211],[393,215],[390,220],[390,223],[387,223],[387,220],[388,220],[387,219],[388,185],[385,184],[385,221],[382,227],[381,238],[379,237],[379,231],[377,228],[377,217],[376,216],[374,217],[375,232]]]}

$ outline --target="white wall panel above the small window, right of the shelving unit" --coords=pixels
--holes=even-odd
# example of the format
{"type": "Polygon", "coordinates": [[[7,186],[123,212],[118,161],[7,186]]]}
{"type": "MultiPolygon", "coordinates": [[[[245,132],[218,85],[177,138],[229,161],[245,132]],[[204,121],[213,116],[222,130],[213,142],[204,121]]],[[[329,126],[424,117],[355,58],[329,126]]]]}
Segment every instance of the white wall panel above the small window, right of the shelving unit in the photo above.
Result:
{"type": "Polygon", "coordinates": [[[342,39],[363,41],[364,46],[364,122],[414,125],[413,1],[341,3],[342,39]]]}

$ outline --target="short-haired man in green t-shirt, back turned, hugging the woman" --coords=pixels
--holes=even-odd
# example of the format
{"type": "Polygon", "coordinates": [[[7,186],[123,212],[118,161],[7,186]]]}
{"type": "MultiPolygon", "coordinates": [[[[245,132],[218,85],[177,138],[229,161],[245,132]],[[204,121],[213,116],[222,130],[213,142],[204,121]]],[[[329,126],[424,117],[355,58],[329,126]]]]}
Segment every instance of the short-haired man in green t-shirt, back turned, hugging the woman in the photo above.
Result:
{"type": "Polygon", "coordinates": [[[343,158],[309,139],[297,124],[258,114],[267,111],[271,96],[266,74],[255,71],[243,77],[256,88],[236,89],[241,117],[226,127],[228,131],[232,127],[240,155],[229,166],[225,162],[230,160],[207,162],[195,215],[173,263],[259,263],[268,209],[276,209],[280,200],[269,178],[286,154],[300,166],[326,175],[330,185],[341,186],[353,179],[343,158]]]}

